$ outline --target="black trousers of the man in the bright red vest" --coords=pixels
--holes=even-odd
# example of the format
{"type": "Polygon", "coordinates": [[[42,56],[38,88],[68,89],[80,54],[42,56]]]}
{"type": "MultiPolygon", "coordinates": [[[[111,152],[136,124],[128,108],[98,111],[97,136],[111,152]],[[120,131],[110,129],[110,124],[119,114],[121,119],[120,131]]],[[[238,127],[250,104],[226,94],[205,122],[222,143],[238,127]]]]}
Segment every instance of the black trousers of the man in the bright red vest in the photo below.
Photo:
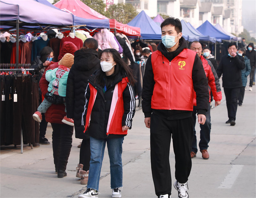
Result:
{"type": "Polygon", "coordinates": [[[167,120],[156,114],[150,122],[151,170],[156,195],[171,195],[172,178],[169,162],[171,136],[175,154],[175,178],[186,183],[192,167],[192,116],[180,120],[167,120]]]}

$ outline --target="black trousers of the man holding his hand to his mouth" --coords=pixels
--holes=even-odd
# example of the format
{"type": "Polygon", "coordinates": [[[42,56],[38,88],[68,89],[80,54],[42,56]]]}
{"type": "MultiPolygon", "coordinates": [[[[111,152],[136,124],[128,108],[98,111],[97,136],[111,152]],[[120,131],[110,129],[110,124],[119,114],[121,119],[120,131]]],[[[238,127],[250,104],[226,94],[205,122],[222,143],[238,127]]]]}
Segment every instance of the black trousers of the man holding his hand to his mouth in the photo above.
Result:
{"type": "Polygon", "coordinates": [[[234,121],[236,120],[237,100],[238,100],[239,91],[240,91],[240,87],[238,88],[224,87],[229,120],[234,120],[234,121]]]}

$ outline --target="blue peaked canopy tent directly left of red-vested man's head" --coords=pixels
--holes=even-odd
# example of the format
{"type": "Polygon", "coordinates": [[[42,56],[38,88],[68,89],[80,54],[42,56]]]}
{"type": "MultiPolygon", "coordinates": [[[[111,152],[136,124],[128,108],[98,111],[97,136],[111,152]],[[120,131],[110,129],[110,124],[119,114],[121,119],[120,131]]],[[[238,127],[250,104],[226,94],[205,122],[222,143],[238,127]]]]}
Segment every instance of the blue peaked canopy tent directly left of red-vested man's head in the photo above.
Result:
{"type": "Polygon", "coordinates": [[[161,40],[161,28],[143,10],[127,25],[140,28],[141,38],[144,40],[161,40]]]}

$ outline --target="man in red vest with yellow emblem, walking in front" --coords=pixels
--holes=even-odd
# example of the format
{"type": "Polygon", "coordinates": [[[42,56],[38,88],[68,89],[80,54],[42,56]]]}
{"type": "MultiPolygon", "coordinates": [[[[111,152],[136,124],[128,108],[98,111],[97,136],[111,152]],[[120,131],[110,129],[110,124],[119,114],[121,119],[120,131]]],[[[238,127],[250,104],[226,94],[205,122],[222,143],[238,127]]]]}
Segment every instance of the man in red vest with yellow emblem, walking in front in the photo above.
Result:
{"type": "Polygon", "coordinates": [[[147,60],[142,87],[142,110],[150,128],[151,170],[158,197],[170,197],[169,162],[171,136],[175,153],[175,189],[188,197],[191,144],[193,139],[193,88],[196,91],[198,123],[204,124],[209,103],[208,81],[202,61],[187,49],[179,19],[161,24],[162,42],[147,60]]]}

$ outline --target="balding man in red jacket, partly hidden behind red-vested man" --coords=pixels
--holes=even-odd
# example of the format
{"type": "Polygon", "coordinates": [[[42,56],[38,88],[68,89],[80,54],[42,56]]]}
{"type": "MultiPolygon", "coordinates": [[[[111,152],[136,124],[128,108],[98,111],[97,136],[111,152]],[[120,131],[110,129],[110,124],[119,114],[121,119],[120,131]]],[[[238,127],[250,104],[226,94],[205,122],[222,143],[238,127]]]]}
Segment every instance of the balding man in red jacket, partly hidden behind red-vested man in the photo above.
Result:
{"type": "MultiPolygon", "coordinates": [[[[215,100],[215,107],[217,107],[220,104],[220,100],[222,99],[221,89],[220,89],[220,81],[218,78],[218,75],[212,65],[212,62],[209,59],[205,59],[202,56],[202,45],[198,41],[193,41],[190,44],[190,50],[193,50],[197,53],[197,55],[200,57],[204,71],[206,74],[206,77],[208,79],[208,84],[211,89],[209,89],[209,93],[212,91],[213,99],[215,100]]],[[[205,160],[209,159],[209,153],[207,151],[208,143],[210,142],[210,132],[211,132],[211,114],[210,114],[210,102],[208,105],[208,111],[206,112],[206,121],[204,125],[200,125],[200,141],[199,141],[199,148],[200,152],[202,153],[202,157],[205,160]]],[[[194,119],[194,137],[192,141],[192,151],[191,151],[191,158],[196,157],[197,153],[197,145],[196,145],[196,112],[197,112],[197,106],[196,106],[196,93],[194,93],[194,107],[193,107],[193,119],[194,119]]]]}

